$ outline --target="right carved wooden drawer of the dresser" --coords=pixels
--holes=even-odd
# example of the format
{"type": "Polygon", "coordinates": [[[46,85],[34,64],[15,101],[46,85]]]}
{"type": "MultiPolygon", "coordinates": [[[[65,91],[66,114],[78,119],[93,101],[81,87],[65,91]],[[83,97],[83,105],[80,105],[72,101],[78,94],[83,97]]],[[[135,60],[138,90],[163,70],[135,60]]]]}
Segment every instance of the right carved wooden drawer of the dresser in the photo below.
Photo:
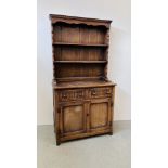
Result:
{"type": "Polygon", "coordinates": [[[89,98],[108,98],[112,96],[112,88],[91,88],[89,89],[89,98]]]}

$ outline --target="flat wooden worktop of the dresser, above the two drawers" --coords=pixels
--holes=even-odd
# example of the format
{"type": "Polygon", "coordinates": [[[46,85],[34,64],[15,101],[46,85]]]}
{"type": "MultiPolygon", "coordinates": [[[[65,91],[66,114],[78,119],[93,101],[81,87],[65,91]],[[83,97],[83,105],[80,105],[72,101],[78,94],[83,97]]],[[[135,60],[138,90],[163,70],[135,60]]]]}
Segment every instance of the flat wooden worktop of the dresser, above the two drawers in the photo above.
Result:
{"type": "Polygon", "coordinates": [[[72,89],[72,88],[90,88],[90,87],[107,87],[107,86],[116,86],[116,83],[112,81],[105,80],[93,80],[93,81],[61,81],[56,82],[53,80],[52,82],[54,89],[72,89]]]}

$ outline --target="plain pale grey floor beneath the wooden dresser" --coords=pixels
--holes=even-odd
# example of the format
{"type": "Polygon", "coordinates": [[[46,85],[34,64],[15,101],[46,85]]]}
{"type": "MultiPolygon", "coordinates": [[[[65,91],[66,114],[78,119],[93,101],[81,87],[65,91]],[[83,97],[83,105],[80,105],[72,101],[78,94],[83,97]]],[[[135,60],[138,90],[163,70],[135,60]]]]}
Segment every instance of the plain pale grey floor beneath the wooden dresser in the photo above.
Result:
{"type": "Polygon", "coordinates": [[[38,126],[38,168],[131,168],[130,121],[114,121],[114,134],[56,146],[52,126],[38,126]]]}

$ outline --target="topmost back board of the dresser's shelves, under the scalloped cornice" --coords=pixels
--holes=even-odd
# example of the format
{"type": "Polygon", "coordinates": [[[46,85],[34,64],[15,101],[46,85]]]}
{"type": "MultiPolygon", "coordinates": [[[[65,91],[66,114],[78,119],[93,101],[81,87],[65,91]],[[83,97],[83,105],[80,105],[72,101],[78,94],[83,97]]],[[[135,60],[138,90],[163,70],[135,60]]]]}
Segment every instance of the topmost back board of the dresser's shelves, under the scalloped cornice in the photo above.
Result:
{"type": "Polygon", "coordinates": [[[106,28],[103,26],[56,23],[53,26],[53,42],[103,44],[105,43],[105,31],[106,28]]]}

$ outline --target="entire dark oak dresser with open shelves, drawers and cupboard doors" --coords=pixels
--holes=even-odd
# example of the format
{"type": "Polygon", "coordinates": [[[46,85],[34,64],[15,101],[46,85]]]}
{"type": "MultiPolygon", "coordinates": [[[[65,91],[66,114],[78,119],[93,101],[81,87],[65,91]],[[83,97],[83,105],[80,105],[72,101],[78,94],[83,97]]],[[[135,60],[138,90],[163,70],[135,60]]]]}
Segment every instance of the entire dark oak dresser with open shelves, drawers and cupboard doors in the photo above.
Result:
{"type": "Polygon", "coordinates": [[[115,83],[107,78],[109,20],[50,15],[56,144],[113,134],[115,83]]]}

